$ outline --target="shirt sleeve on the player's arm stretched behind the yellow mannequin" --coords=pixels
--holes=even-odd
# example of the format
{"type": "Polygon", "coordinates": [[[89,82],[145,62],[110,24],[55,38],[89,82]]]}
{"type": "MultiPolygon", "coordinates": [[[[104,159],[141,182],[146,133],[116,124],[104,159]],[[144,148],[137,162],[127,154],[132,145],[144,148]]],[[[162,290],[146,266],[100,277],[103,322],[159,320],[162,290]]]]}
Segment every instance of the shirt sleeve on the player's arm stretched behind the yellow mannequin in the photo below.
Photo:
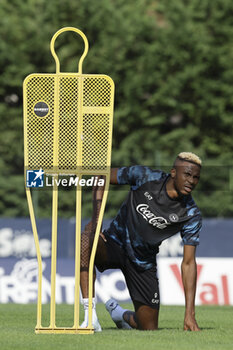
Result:
{"type": "Polygon", "coordinates": [[[161,170],[152,170],[141,165],[122,167],[117,172],[117,182],[119,185],[131,185],[139,187],[147,181],[159,180],[162,177],[161,170]]]}

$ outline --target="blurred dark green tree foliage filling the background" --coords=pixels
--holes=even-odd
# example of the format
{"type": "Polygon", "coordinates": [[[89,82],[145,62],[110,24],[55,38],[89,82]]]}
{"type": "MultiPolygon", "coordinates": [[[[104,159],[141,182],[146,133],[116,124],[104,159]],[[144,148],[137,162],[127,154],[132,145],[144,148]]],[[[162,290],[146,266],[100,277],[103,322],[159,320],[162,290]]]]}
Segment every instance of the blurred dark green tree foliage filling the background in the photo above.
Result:
{"type": "MultiPolygon", "coordinates": [[[[194,196],[205,216],[232,216],[233,3],[230,0],[1,0],[0,207],[28,215],[23,180],[22,82],[55,71],[52,35],[74,26],[88,37],[85,73],[115,81],[112,164],[169,169],[177,153],[196,152],[203,175],[194,196]]],[[[77,71],[82,43],[57,40],[62,71],[77,71]],[[80,45],[81,43],[81,45],[80,45]]],[[[110,191],[113,216],[126,189],[110,191]]],[[[90,215],[86,191],[84,216],[90,215]]],[[[39,216],[49,216],[47,192],[36,192],[39,216]]],[[[75,198],[62,191],[60,213],[73,216],[75,198]]]]}

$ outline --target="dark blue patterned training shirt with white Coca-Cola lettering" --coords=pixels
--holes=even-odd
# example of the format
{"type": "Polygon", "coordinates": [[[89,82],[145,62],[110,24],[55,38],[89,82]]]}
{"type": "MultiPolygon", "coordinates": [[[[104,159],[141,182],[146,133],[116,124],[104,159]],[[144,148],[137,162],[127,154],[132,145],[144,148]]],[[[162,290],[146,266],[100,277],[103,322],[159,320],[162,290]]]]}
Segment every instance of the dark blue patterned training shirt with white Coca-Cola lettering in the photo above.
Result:
{"type": "Polygon", "coordinates": [[[191,195],[172,199],[166,191],[170,174],[145,166],[118,169],[118,184],[131,186],[127,199],[105,235],[123,247],[141,269],[156,264],[159,245],[180,232],[183,243],[198,245],[200,210],[191,195]]]}

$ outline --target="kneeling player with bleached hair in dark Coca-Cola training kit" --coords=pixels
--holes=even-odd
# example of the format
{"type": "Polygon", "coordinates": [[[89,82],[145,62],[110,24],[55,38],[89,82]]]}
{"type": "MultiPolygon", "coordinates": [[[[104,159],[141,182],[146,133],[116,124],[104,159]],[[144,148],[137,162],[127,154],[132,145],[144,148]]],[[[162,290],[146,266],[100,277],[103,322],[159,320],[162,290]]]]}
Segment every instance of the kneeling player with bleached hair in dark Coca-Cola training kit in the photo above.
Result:
{"type": "MultiPolygon", "coordinates": [[[[190,152],[180,153],[170,174],[144,166],[111,170],[111,184],[129,184],[127,199],[110,227],[101,233],[95,266],[100,272],[121,269],[135,312],[122,309],[114,299],[106,303],[118,328],[156,330],[159,287],[156,254],[163,240],[181,233],[184,244],[182,280],[185,292],[184,330],[200,330],[195,320],[196,260],[201,214],[191,192],[198,184],[201,160],[190,152]]],[[[94,211],[82,233],[81,289],[85,319],[88,319],[88,264],[103,187],[93,191],[94,211]]],[[[101,331],[93,302],[93,325],[101,331]]]]}

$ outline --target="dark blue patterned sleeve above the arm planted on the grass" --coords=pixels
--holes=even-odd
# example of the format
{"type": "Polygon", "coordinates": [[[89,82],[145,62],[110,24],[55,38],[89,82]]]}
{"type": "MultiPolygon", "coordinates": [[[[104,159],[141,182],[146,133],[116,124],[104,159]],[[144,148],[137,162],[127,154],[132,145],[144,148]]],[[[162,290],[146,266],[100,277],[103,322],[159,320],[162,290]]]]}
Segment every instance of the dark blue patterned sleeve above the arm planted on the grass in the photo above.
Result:
{"type": "Polygon", "coordinates": [[[202,217],[197,215],[190,219],[180,231],[184,245],[199,245],[199,236],[202,228],[202,217]]]}

